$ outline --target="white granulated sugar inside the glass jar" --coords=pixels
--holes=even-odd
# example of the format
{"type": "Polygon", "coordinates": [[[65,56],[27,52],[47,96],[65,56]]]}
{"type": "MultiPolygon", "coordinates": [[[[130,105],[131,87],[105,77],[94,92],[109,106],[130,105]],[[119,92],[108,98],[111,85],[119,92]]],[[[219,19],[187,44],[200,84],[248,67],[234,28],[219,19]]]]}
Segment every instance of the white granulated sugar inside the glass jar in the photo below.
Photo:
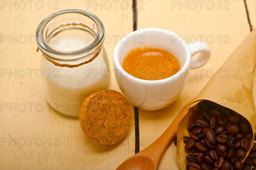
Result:
{"type": "MultiPolygon", "coordinates": [[[[87,46],[84,39],[68,37],[52,44],[53,49],[75,51],[87,46]]],[[[110,80],[103,73],[108,69],[103,58],[103,50],[90,63],[69,68],[55,66],[42,57],[41,68],[44,70],[46,98],[57,111],[66,115],[79,115],[82,102],[87,96],[108,89],[110,80]]]]}

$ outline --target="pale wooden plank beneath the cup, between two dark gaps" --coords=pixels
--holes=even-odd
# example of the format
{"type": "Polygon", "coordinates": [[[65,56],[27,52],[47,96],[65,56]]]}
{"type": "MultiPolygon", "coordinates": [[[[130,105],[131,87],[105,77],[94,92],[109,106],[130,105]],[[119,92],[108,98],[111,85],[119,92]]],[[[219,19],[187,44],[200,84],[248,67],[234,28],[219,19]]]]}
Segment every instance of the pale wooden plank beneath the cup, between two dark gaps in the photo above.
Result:
{"type": "MultiPolygon", "coordinates": [[[[140,150],[166,130],[182,107],[201,91],[212,77],[212,73],[218,71],[221,64],[250,32],[243,0],[161,0],[157,3],[139,0],[138,29],[154,27],[175,32],[185,39],[186,43],[202,40],[208,44],[212,56],[205,66],[190,72],[183,92],[173,104],[154,112],[140,112],[140,150]]],[[[223,77],[228,72],[222,71],[219,74],[223,77]]],[[[164,153],[158,169],[179,169],[174,144],[164,153]]]]}

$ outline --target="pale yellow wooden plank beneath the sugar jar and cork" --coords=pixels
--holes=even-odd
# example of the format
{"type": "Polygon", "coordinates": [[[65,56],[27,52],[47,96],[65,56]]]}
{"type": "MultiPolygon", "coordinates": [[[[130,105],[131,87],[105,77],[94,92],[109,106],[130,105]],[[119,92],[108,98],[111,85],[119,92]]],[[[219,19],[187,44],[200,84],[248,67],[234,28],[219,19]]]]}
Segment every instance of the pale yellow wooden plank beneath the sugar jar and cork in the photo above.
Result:
{"type": "MultiPolygon", "coordinates": [[[[116,43],[132,32],[132,4],[109,2],[31,1],[30,6],[26,1],[1,1],[1,40],[8,39],[0,44],[0,169],[114,169],[134,154],[134,118],[122,143],[100,146],[86,138],[78,119],[53,112],[39,78],[41,52],[35,52],[35,31],[45,17],[64,9],[87,10],[102,20],[105,35],[112,38],[105,48],[113,69],[116,43]]],[[[114,76],[111,81],[111,89],[119,91],[114,76]]]]}

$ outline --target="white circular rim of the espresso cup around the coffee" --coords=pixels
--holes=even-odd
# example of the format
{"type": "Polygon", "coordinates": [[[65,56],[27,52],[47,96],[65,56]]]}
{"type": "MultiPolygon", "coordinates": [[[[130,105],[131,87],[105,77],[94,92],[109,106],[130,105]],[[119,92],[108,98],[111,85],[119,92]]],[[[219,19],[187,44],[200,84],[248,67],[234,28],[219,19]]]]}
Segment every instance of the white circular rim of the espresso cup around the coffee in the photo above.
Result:
{"type": "MultiPolygon", "coordinates": [[[[130,38],[134,35],[137,35],[138,33],[151,32],[151,31],[153,31],[153,32],[162,32],[162,33],[165,32],[165,33],[168,33],[170,35],[177,35],[174,32],[171,32],[171,31],[166,30],[166,29],[146,28],[146,29],[138,29],[134,32],[129,33],[126,36],[130,38]]],[[[186,44],[185,40],[183,40],[182,37],[180,37],[179,35],[177,35],[177,37],[178,37],[178,40],[180,40],[180,42],[181,42],[180,45],[184,46],[184,48],[186,49],[186,61],[177,73],[175,73],[174,75],[172,75],[168,78],[164,78],[164,79],[160,79],[160,80],[144,80],[144,79],[136,78],[133,75],[130,75],[128,72],[126,72],[125,69],[123,69],[122,65],[120,64],[119,55],[118,55],[118,53],[120,52],[121,46],[125,46],[125,44],[122,43],[122,39],[119,40],[119,42],[116,44],[116,47],[114,49],[113,64],[114,64],[114,66],[116,66],[116,69],[124,71],[128,75],[127,78],[130,77],[134,81],[140,81],[142,83],[150,83],[150,84],[156,84],[156,83],[161,83],[161,82],[163,83],[163,82],[168,82],[168,81],[175,81],[175,79],[180,78],[180,75],[181,75],[180,73],[184,74],[184,73],[188,72],[189,63],[191,63],[191,53],[190,53],[188,45],[186,44]],[[189,55],[190,55],[190,57],[189,57],[189,55]]],[[[123,38],[125,38],[125,37],[123,37],[123,38]]]]}

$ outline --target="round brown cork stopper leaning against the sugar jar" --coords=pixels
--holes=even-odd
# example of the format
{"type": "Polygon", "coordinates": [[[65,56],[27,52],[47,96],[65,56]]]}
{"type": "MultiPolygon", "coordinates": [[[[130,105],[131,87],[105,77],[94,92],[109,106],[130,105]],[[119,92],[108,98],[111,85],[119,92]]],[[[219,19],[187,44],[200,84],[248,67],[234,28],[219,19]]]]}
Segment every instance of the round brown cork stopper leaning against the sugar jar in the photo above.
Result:
{"type": "Polygon", "coordinates": [[[88,138],[104,145],[112,145],[128,133],[131,108],[120,92],[103,90],[84,100],[79,121],[88,138]]]}

